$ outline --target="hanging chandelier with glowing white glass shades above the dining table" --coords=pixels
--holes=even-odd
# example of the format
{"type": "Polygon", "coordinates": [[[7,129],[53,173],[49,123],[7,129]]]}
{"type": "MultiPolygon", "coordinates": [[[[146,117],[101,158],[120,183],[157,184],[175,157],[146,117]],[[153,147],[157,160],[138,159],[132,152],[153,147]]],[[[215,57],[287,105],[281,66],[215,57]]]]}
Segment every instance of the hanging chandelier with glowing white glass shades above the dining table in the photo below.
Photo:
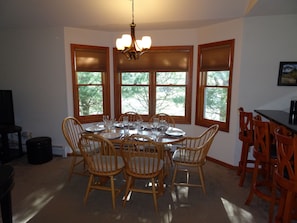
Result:
{"type": "Polygon", "coordinates": [[[137,60],[152,45],[150,36],[143,36],[141,40],[136,40],[134,23],[134,0],[132,0],[132,23],[130,24],[131,35],[123,34],[122,38],[116,40],[116,47],[120,50],[128,60],[137,60]]]}

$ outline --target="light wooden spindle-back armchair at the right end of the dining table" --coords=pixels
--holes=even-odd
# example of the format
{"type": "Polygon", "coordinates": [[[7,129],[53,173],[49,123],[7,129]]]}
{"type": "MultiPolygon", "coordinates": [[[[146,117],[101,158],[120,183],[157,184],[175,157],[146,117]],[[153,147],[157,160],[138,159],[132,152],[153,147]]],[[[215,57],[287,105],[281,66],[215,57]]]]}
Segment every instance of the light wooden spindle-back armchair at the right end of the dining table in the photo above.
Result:
{"type": "Polygon", "coordinates": [[[188,187],[202,187],[204,194],[206,193],[203,166],[206,163],[207,153],[212,145],[215,135],[219,130],[219,125],[212,125],[205,130],[198,137],[185,137],[183,141],[179,143],[179,147],[173,154],[173,163],[175,165],[171,190],[175,185],[188,186],[188,187]],[[185,169],[185,168],[186,169],[185,169]],[[200,176],[200,184],[193,184],[189,181],[189,170],[187,168],[194,167],[197,169],[200,176]],[[187,182],[176,183],[177,171],[187,172],[187,182]]]}

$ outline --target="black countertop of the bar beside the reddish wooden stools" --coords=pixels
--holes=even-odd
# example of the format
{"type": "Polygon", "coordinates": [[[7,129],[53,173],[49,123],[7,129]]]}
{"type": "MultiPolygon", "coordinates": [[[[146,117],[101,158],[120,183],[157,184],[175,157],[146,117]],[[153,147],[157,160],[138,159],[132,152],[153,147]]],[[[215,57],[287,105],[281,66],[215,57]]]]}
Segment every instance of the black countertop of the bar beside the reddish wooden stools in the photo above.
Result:
{"type": "MultiPolygon", "coordinates": [[[[289,130],[293,135],[297,136],[297,125],[289,121],[289,112],[282,110],[255,110],[256,113],[268,119],[274,125],[281,125],[289,130]]],[[[274,131],[274,128],[273,128],[274,131]]]]}

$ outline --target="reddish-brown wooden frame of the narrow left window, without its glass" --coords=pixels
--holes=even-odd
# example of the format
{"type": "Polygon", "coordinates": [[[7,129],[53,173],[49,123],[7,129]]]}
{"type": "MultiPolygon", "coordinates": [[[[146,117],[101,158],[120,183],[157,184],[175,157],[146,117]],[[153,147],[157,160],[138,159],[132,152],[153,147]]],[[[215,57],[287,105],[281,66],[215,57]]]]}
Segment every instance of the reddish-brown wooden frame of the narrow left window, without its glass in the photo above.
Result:
{"type": "MultiPolygon", "coordinates": [[[[98,122],[102,120],[103,114],[110,115],[110,71],[109,71],[109,48],[102,46],[90,46],[81,44],[70,44],[71,49],[71,68],[72,68],[72,91],[73,91],[73,115],[81,123],[98,122]],[[76,69],[76,51],[94,52],[99,51],[104,54],[101,63],[104,68],[87,68],[86,72],[102,72],[102,98],[103,98],[103,114],[81,116],[79,114],[79,84],[77,83],[76,69]]],[[[102,58],[101,58],[102,59],[102,58]]],[[[100,63],[101,61],[99,61],[100,63]]],[[[97,84],[94,84],[97,85],[97,84]]]]}

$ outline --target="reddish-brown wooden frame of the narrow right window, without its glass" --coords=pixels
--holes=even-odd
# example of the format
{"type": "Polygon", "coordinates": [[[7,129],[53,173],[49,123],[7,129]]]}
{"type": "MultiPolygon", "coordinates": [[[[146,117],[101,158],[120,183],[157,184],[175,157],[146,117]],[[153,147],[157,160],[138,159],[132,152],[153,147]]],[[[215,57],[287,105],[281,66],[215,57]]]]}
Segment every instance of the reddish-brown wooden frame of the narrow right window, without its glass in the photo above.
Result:
{"type": "MultiPolygon", "coordinates": [[[[198,66],[197,66],[197,93],[196,93],[196,118],[195,124],[200,126],[209,127],[213,124],[219,125],[219,130],[229,132],[230,126],[230,110],[231,110],[231,97],[232,97],[232,77],[233,77],[233,62],[234,62],[234,45],[235,39],[224,40],[219,42],[212,42],[207,44],[198,45],[198,66]],[[229,46],[229,58],[228,67],[226,66],[214,66],[213,68],[201,68],[202,66],[202,51],[211,48],[220,48],[229,46]],[[217,86],[220,88],[227,88],[227,106],[226,106],[226,121],[220,122],[217,120],[205,119],[204,118],[204,98],[205,88],[207,88],[207,71],[229,71],[229,83],[228,86],[217,86]]],[[[226,59],[226,58],[225,58],[226,59]]]]}

